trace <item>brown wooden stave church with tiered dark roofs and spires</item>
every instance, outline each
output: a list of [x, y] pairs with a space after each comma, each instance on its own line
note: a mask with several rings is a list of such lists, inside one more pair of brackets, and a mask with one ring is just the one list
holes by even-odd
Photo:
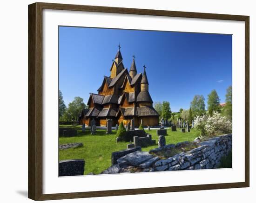
[[142, 119], [143, 126], [157, 126], [159, 114], [153, 108], [153, 101], [148, 92], [148, 78], [146, 67], [144, 72], [137, 73], [135, 56], [128, 71], [123, 65], [120, 51], [110, 68], [110, 76], [104, 76], [98, 94], [90, 93], [88, 109], [84, 109], [80, 116], [80, 123], [91, 125], [94, 119], [97, 126], [106, 126], [107, 119], [113, 120], [113, 126], [126, 125], [135, 119], [135, 126], [139, 126]]

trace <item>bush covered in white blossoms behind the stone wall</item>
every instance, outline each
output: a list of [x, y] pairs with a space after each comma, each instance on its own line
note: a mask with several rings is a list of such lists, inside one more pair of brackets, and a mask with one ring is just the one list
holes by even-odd
[[207, 115], [196, 116], [194, 126], [201, 132], [201, 136], [232, 132], [231, 121], [218, 112], [214, 112], [211, 117]]

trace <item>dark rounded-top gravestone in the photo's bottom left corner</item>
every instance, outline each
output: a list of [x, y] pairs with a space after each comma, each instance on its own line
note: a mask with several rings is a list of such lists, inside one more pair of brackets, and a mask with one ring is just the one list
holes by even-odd
[[63, 160], [59, 163], [59, 176], [81, 176], [84, 174], [83, 159]]

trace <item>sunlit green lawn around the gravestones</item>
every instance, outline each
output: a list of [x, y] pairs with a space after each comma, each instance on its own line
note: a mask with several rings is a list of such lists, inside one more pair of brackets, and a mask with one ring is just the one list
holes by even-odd
[[[115, 130], [112, 131], [112, 134], [106, 134], [106, 130], [97, 129], [95, 135], [91, 135], [89, 130], [86, 129], [86, 132], [81, 132], [81, 126], [66, 126], [61, 125], [60, 127], [72, 127], [78, 130], [78, 135], [76, 137], [70, 138], [59, 138], [59, 144], [67, 144], [74, 142], [83, 143], [82, 147], [75, 149], [66, 149], [59, 150], [60, 160], [65, 159], [84, 159], [85, 171], [84, 174], [93, 172], [94, 174], [99, 174], [101, 171], [104, 171], [109, 166], [111, 166], [111, 153], [126, 149], [126, 145], [129, 142], [115, 142]], [[158, 136], [156, 135], [156, 130], [148, 131], [147, 133], [152, 134], [152, 140], [156, 140], [155, 146], [148, 146], [142, 148], [142, 151], [149, 151], [157, 147]], [[194, 129], [191, 129], [190, 133], [181, 133], [180, 129], [177, 129], [177, 132], [171, 132], [170, 129], [167, 129], [166, 144], [176, 144], [177, 142], [182, 141], [193, 141], [197, 137], [197, 133]]]

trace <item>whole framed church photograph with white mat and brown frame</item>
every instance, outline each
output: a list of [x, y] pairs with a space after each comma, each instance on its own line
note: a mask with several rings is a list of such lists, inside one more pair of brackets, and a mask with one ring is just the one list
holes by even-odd
[[249, 187], [249, 16], [34, 3], [28, 25], [29, 198]]

